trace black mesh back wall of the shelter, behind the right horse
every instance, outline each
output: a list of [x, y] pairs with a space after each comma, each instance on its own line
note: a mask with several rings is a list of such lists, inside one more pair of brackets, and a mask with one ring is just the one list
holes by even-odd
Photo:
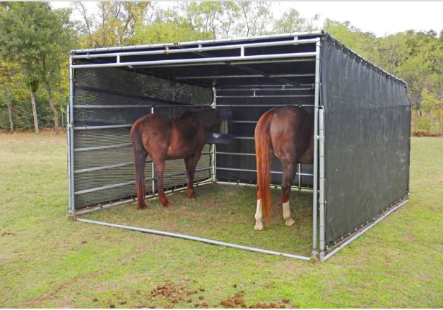
[[[295, 86], [300, 87], [300, 86]], [[223, 98], [223, 96], [252, 96], [253, 91], [218, 91], [217, 105], [313, 105], [314, 91], [256, 91], [256, 96], [276, 96], [274, 98]], [[281, 98], [282, 95], [308, 95], [308, 97], [289, 97]], [[256, 170], [255, 148], [254, 148], [254, 130], [256, 122], [261, 115], [272, 107], [235, 107], [232, 106], [232, 127], [230, 134], [237, 137], [232, 144], [217, 145], [217, 167], [218, 168], [237, 168]], [[313, 112], [313, 108], [305, 108], [309, 113]], [[238, 122], [240, 121], [240, 122]], [[254, 123], [242, 123], [241, 121], [254, 121]], [[241, 139], [241, 137], [252, 137], [252, 139]], [[218, 154], [220, 152], [229, 153], [247, 153], [254, 156], [244, 155], [226, 155]], [[302, 173], [313, 172], [312, 165], [302, 165]], [[281, 163], [278, 159], [273, 159], [271, 163], [272, 171], [283, 171]], [[297, 171], [299, 172], [299, 171]], [[235, 181], [240, 183], [256, 184], [256, 173], [247, 171], [229, 171], [217, 169], [218, 180]], [[272, 173], [271, 182], [273, 184], [281, 184], [281, 173]], [[302, 176], [301, 185], [312, 187], [312, 176]], [[298, 176], [295, 176], [293, 185], [298, 184]]]

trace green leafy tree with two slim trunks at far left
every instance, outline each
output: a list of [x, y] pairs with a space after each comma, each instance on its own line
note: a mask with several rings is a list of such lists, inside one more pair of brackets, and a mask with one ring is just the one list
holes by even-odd
[[35, 132], [39, 133], [35, 92], [44, 84], [54, 127], [59, 134], [59, 115], [52, 100], [52, 85], [73, 44], [69, 10], [53, 11], [46, 2], [6, 2], [0, 11], [0, 52], [18, 62], [26, 78], [33, 106]]

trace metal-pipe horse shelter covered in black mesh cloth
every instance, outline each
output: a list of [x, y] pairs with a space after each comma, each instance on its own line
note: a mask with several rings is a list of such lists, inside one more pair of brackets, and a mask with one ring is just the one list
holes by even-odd
[[[226, 120], [222, 131], [232, 135], [232, 143], [206, 144], [195, 183], [251, 186], [259, 117], [279, 105], [301, 106], [314, 115], [314, 164], [299, 164], [293, 180], [293, 190], [312, 192], [310, 257], [79, 221], [324, 261], [408, 201], [406, 83], [324, 31], [74, 50], [70, 90], [69, 212], [76, 217], [135, 201], [129, 130], [143, 115], [179, 117], [202, 105], [220, 109]], [[155, 197], [153, 164], [149, 158], [147, 163], [146, 197]], [[182, 160], [167, 161], [165, 189], [181, 190], [184, 171]], [[279, 188], [281, 176], [274, 160], [273, 188]], [[254, 212], [252, 207], [252, 219]]]

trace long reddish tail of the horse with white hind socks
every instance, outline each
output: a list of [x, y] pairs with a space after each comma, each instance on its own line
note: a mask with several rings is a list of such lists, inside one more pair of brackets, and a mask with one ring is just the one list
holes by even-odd
[[269, 226], [271, 217], [271, 138], [269, 127], [271, 125], [272, 113], [261, 115], [255, 127], [255, 155], [257, 163], [257, 200], [261, 200], [265, 226]]

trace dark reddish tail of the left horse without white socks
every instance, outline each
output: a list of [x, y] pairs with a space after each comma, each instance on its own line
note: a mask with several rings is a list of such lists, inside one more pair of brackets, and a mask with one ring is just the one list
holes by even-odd
[[136, 187], [138, 208], [145, 207], [145, 164], [148, 153], [143, 147], [141, 130], [138, 125], [131, 128], [132, 149], [134, 149], [134, 167], [136, 169]]

